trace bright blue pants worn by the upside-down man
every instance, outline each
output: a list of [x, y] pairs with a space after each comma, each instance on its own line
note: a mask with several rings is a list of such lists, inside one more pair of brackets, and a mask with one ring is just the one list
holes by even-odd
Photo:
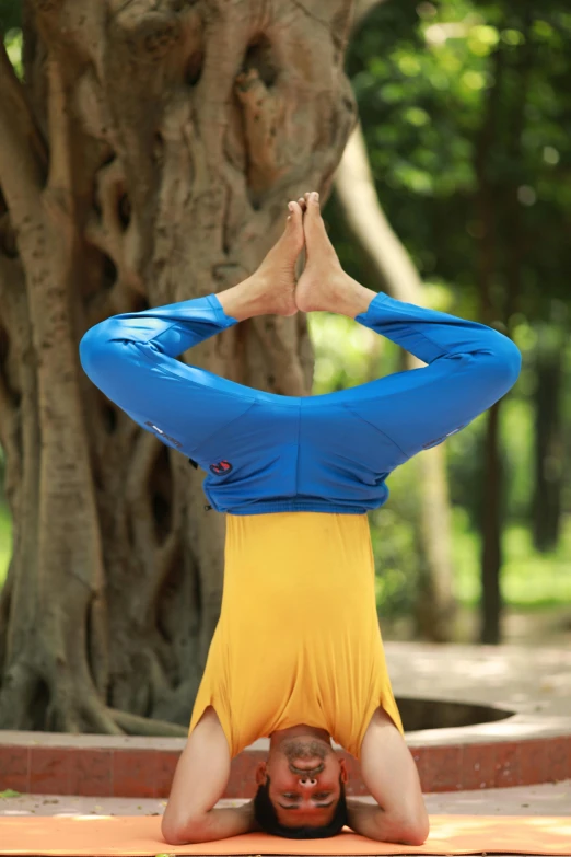
[[176, 357], [237, 324], [215, 294], [115, 315], [81, 340], [81, 364], [108, 398], [207, 473], [218, 511], [364, 513], [385, 479], [501, 398], [521, 369], [491, 327], [377, 294], [359, 324], [428, 366], [321, 396], [281, 396]]

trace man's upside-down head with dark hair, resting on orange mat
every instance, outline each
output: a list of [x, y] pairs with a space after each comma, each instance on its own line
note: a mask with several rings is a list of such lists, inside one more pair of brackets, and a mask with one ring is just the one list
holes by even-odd
[[345, 761], [324, 738], [310, 732], [272, 740], [256, 781], [255, 815], [267, 833], [324, 838], [347, 824]]

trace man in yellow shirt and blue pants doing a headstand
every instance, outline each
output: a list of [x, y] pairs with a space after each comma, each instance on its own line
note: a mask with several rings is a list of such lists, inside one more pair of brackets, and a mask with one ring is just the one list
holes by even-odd
[[[289, 208], [283, 235], [244, 282], [114, 316], [80, 346], [93, 382], [201, 466], [209, 502], [226, 513], [220, 621], [162, 833], [182, 845], [259, 829], [330, 836], [347, 823], [373, 839], [420, 845], [429, 821], [386, 669], [366, 512], [386, 501], [395, 467], [510, 390], [521, 356], [490, 327], [347, 276], [317, 194]], [[318, 310], [354, 319], [428, 366], [302, 398], [175, 359], [254, 315]], [[270, 751], [255, 800], [215, 808], [231, 760], [263, 736]], [[346, 799], [331, 738], [360, 761], [376, 804]]]

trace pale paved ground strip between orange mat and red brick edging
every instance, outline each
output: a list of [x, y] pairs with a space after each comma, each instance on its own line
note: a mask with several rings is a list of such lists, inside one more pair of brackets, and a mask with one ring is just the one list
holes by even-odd
[[[427, 795], [432, 814], [571, 815], [571, 780], [544, 786]], [[225, 800], [220, 806], [238, 806]], [[0, 798], [0, 815], [152, 815], [163, 813], [166, 800], [145, 798], [80, 798], [22, 795]]]

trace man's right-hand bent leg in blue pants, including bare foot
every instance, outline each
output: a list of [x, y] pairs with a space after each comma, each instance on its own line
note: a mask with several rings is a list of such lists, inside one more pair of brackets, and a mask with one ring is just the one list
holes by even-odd
[[307, 266], [298, 285], [298, 306], [354, 317], [428, 363], [322, 397], [323, 407], [335, 403], [347, 408], [377, 430], [380, 444], [392, 444], [395, 454], [382, 456], [375, 470], [392, 470], [442, 442], [515, 383], [521, 355], [506, 336], [477, 322], [375, 294], [345, 274], [313, 195], [304, 232]]

